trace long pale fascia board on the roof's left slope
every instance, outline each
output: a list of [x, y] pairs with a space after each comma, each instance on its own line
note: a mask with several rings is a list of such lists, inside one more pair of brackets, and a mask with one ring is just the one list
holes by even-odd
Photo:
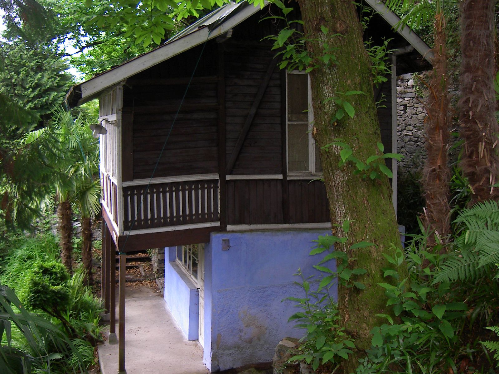
[[[267, 1], [265, 1], [265, 5], [266, 4], [268, 4]], [[123, 65], [108, 70], [107, 72], [95, 78], [81, 83], [81, 99], [78, 101], [78, 105], [95, 98], [96, 95], [102, 90], [116, 83], [119, 83], [126, 78], [140, 73], [141, 71], [159, 64], [160, 62], [168, 60], [169, 58], [185, 52], [188, 49], [200, 45], [207, 40], [214, 39], [224, 34], [259, 10], [260, 7], [248, 5], [245, 8], [241, 9], [241, 11], [239, 11], [237, 14], [229, 18], [227, 21], [223, 22], [211, 33], [208, 27], [203, 27], [180, 39], [174, 40], [171, 43], [164, 44], [161, 47], [152, 50], [151, 52], [148, 52], [142, 56], [130, 60], [129, 62], [124, 63]]]

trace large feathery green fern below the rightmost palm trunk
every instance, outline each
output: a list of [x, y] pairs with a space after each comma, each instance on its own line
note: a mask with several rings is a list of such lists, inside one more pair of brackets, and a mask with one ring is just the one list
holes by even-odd
[[434, 284], [475, 281], [491, 272], [498, 278], [499, 202], [483, 201], [463, 209], [455, 222], [460, 226], [456, 251], [443, 263]]

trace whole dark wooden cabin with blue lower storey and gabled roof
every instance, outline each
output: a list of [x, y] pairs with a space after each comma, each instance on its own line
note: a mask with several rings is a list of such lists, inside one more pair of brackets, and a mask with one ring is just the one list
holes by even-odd
[[[429, 47], [394, 31], [398, 17], [379, 0], [365, 5], [375, 9], [365, 38], [395, 50], [374, 92], [385, 152], [396, 152], [395, 79], [427, 69]], [[167, 247], [165, 299], [211, 371], [269, 361], [296, 335], [280, 300], [298, 267], [313, 273], [311, 240], [331, 224], [309, 78], [279, 70], [263, 39], [282, 27], [269, 11], [227, 4], [70, 95], [100, 101], [102, 214], [116, 247]]]

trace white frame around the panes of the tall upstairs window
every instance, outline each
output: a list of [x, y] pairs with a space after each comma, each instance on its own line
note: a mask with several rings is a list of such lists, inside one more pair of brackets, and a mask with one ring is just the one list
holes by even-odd
[[[289, 172], [289, 149], [288, 149], [288, 124], [289, 123], [303, 123], [301, 121], [289, 121], [288, 120], [288, 102], [287, 102], [287, 76], [288, 74], [306, 74], [307, 75], [307, 82], [308, 82], [308, 171], [303, 171], [303, 172]], [[312, 130], [313, 130], [313, 122], [314, 122], [314, 116], [313, 116], [313, 108], [312, 108], [312, 87], [310, 84], [310, 74], [305, 73], [304, 71], [299, 71], [299, 70], [293, 70], [293, 71], [286, 71], [286, 172], [288, 176], [296, 176], [296, 177], [303, 177], [303, 176], [312, 176], [312, 177], [317, 177], [317, 176], [322, 176], [322, 172], [316, 172], [315, 171], [315, 139], [312, 136]]]

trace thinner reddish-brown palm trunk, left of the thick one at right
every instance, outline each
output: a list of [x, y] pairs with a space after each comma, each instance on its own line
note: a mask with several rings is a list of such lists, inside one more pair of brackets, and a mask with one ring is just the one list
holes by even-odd
[[[447, 242], [450, 233], [449, 182], [451, 173], [448, 165], [449, 150], [449, 95], [447, 81], [447, 33], [443, 13], [435, 15], [433, 71], [429, 85], [426, 117], [427, 160], [423, 168], [423, 187], [426, 200], [424, 222], [441, 242]], [[434, 245], [435, 235], [428, 238]], [[445, 248], [445, 247], [444, 247]]]

